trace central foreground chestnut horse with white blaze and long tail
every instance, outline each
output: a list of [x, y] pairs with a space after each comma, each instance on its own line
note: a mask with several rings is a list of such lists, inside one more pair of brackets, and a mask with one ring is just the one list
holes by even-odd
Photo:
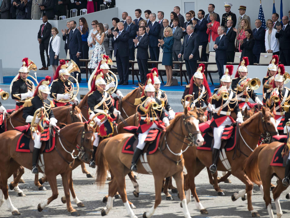
[[[111, 169], [114, 178], [109, 182], [109, 197], [106, 207], [102, 210], [101, 215], [104, 216], [112, 209], [113, 193], [118, 187], [119, 194], [125, 208], [131, 218], [137, 218], [133, 210], [130, 208], [127, 194], [125, 190], [125, 175], [130, 172], [131, 154], [123, 154], [122, 146], [132, 134], [118, 134], [111, 138], [103, 140], [97, 149], [97, 178], [96, 183], [102, 186], [106, 180], [106, 170]], [[187, 209], [186, 199], [183, 190], [183, 166], [184, 160], [182, 157], [181, 148], [184, 139], [187, 138], [189, 145], [203, 144], [199, 128], [198, 120], [195, 111], [187, 111], [180, 113], [170, 121], [170, 125], [166, 127], [160, 137], [159, 150], [147, 157], [148, 164], [152, 169], [155, 181], [155, 205], [143, 214], [143, 217], [151, 217], [155, 212], [156, 207], [161, 202], [161, 187], [162, 180], [166, 177], [173, 176], [178, 192], [180, 193], [181, 203], [183, 205], [184, 216], [189, 218], [190, 213]], [[181, 142], [181, 143], [180, 143]], [[141, 161], [138, 161], [138, 173], [149, 174], [142, 166]]]

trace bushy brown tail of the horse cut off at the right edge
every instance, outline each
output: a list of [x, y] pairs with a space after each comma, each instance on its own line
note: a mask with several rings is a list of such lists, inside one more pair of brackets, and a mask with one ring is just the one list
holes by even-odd
[[256, 147], [253, 153], [246, 159], [246, 163], [244, 165], [244, 171], [246, 172], [246, 175], [252, 182], [258, 185], [261, 184], [260, 171], [258, 166], [258, 155], [260, 151], [267, 145], [268, 144], [263, 144]]

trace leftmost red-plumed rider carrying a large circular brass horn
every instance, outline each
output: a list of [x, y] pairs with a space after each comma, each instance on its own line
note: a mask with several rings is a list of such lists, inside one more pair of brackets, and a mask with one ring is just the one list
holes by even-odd
[[22, 67], [18, 71], [18, 78], [13, 82], [11, 88], [11, 97], [17, 101], [15, 107], [16, 111], [24, 104], [24, 102], [20, 101], [25, 101], [25, 99], [32, 97], [34, 94], [33, 83], [27, 80], [29, 74], [28, 58], [23, 58], [22, 62]]

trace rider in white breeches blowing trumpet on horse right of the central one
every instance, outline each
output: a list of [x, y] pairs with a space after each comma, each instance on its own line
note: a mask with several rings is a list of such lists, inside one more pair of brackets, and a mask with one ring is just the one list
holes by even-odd
[[233, 65], [226, 65], [226, 72], [220, 79], [221, 87], [215, 89], [213, 96], [209, 99], [209, 105], [211, 111], [213, 111], [213, 119], [210, 123], [210, 127], [213, 127], [213, 164], [210, 166], [210, 171], [215, 173], [217, 171], [217, 162], [221, 146], [221, 136], [225, 126], [231, 125], [235, 121], [230, 116], [231, 109], [237, 114], [239, 123], [243, 123], [243, 116], [240, 112], [236, 94], [230, 89], [233, 73]]

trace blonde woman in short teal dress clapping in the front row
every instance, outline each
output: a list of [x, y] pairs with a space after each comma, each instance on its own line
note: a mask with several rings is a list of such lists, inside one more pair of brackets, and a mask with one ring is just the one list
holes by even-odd
[[164, 36], [164, 39], [158, 39], [158, 47], [163, 50], [162, 65], [165, 65], [167, 77], [165, 86], [172, 86], [172, 47], [174, 38], [170, 27], [164, 28]]

